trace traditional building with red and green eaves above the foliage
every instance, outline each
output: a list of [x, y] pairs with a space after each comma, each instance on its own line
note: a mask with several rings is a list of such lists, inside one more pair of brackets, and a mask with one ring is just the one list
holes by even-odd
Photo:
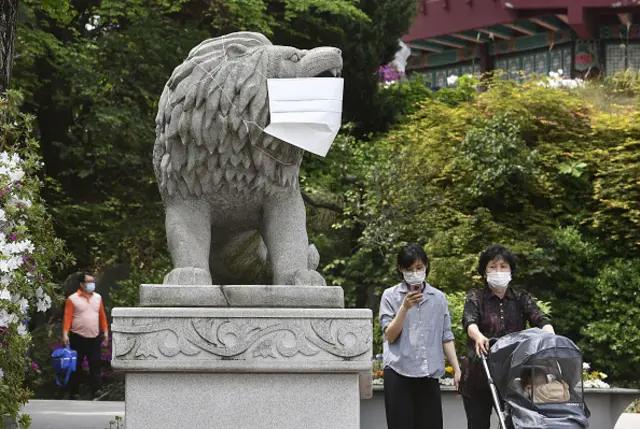
[[495, 69], [565, 76], [640, 69], [640, 0], [420, 0], [407, 71], [436, 88]]

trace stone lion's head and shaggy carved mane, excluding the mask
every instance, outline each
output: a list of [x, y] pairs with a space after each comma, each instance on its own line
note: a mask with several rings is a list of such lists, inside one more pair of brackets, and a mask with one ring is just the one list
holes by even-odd
[[337, 48], [275, 46], [259, 33], [232, 33], [193, 48], [158, 106], [153, 165], [163, 196], [297, 187], [302, 149], [262, 131], [267, 79], [341, 71]]

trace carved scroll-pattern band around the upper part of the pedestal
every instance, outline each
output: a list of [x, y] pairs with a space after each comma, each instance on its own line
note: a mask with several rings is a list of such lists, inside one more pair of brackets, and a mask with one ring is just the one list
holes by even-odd
[[114, 321], [116, 360], [331, 360], [371, 350], [371, 322], [354, 319], [122, 318]]

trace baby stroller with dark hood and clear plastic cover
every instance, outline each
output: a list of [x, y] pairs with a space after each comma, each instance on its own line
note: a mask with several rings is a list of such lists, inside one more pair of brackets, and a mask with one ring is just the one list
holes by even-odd
[[589, 428], [582, 353], [571, 340], [533, 328], [492, 343], [482, 362], [502, 429]]

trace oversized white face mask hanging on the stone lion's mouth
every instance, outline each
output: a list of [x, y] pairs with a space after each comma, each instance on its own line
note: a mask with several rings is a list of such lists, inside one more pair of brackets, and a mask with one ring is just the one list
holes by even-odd
[[342, 124], [344, 80], [267, 79], [271, 122], [264, 129], [284, 142], [325, 156]]

